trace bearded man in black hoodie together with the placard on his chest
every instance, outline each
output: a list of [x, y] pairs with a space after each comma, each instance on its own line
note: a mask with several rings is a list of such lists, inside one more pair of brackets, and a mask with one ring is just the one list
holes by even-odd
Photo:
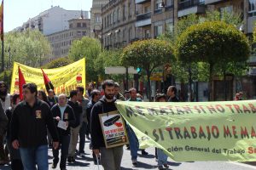
[[104, 169], [119, 170], [127, 135], [124, 122], [114, 105], [113, 80], [104, 81], [102, 89], [105, 95], [93, 106], [90, 116], [92, 149], [96, 156], [101, 155]]

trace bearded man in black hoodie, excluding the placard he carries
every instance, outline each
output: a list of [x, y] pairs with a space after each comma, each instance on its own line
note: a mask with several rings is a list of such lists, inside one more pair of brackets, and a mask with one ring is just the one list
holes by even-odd
[[104, 96], [92, 108], [90, 116], [91, 144], [96, 156], [101, 154], [102, 166], [106, 170], [119, 170], [123, 156], [123, 146], [106, 148], [104, 143], [99, 115], [111, 111], [117, 111], [114, 102], [114, 82], [106, 80], [102, 83]]

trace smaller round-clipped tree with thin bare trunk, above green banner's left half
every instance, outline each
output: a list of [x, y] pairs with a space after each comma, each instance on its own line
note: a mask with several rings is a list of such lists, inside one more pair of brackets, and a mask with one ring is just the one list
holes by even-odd
[[123, 50], [120, 63], [122, 65], [142, 68], [147, 73], [148, 97], [151, 98], [149, 77], [154, 69], [174, 59], [172, 46], [162, 40], [150, 39], [133, 42]]

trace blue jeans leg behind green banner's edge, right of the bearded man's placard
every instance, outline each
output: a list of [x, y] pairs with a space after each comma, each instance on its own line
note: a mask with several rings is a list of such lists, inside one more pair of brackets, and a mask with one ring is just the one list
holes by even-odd
[[126, 126], [126, 129], [127, 129], [129, 145], [131, 150], [131, 160], [137, 160], [137, 150], [139, 149], [137, 136], [129, 125]]

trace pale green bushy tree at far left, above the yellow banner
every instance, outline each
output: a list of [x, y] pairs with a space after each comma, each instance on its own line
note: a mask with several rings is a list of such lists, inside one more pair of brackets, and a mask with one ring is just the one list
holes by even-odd
[[[38, 67], [40, 59], [41, 62], [44, 59], [48, 59], [50, 53], [49, 42], [40, 31], [11, 31], [4, 35], [4, 63], [9, 64], [5, 65], [6, 68], [12, 67], [14, 61]], [[11, 61], [10, 63], [9, 60]]]

